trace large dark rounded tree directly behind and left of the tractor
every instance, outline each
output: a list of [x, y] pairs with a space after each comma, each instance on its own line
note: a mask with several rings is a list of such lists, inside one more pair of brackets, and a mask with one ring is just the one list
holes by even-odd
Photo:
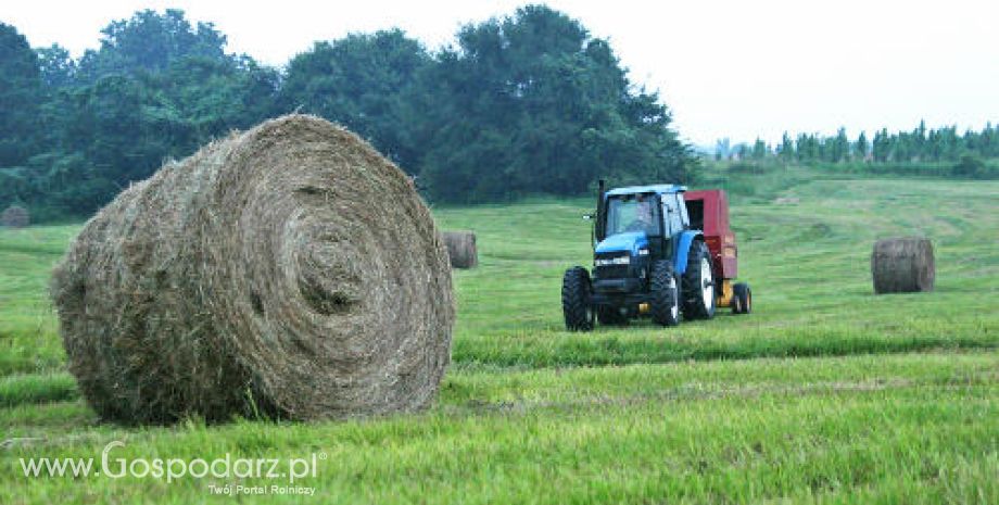
[[421, 184], [447, 201], [683, 181], [691, 156], [606, 41], [545, 7], [469, 25], [420, 75]]

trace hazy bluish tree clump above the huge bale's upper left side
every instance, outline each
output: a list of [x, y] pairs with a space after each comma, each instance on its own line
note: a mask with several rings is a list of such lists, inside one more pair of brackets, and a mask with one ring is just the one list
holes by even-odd
[[210, 24], [143, 11], [103, 33], [101, 49], [78, 63], [58, 46], [38, 50], [45, 151], [17, 173], [29, 181], [13, 186], [18, 199], [92, 212], [164, 160], [276, 111], [278, 72], [225, 54]]

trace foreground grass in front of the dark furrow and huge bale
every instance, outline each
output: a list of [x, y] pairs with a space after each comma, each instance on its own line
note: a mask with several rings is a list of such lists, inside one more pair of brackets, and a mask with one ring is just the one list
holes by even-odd
[[[124, 430], [91, 419], [64, 433], [20, 422], [15, 408], [3, 421], [24, 441], [0, 464], [99, 457], [125, 440], [114, 457], [321, 452], [317, 477], [300, 483], [324, 503], [990, 503], [997, 370], [996, 353], [482, 369], [451, 374], [423, 415], [313, 425]], [[219, 483], [23, 479], [0, 474], [3, 503], [205, 503]]]

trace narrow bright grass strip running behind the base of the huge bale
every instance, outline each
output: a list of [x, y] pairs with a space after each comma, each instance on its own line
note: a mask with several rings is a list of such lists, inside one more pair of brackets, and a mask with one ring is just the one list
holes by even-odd
[[[888, 357], [856, 355], [830, 359], [685, 361], [670, 366], [643, 364], [518, 369], [466, 365], [454, 367], [446, 376], [438, 403], [453, 407], [511, 401], [576, 401], [584, 396], [650, 395], [670, 388], [704, 388], [706, 384], [718, 389], [764, 382], [782, 387], [835, 383], [844, 377], [869, 383], [889, 379], [934, 384], [988, 381], [999, 378], [999, 353], [939, 351]], [[0, 407], [62, 403], [78, 397], [75, 380], [67, 373], [14, 375], [0, 379]], [[16, 416], [7, 417], [11, 422], [15, 419]]]

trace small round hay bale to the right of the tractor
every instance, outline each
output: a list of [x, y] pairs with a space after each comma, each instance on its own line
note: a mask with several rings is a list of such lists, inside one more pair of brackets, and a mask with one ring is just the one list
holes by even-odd
[[871, 274], [875, 294], [932, 291], [933, 244], [922, 237], [878, 240], [871, 254]]

